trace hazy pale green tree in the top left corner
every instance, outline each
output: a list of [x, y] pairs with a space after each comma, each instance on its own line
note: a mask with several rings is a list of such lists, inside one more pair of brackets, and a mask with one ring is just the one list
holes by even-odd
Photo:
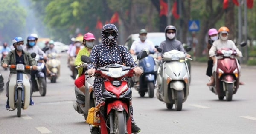
[[26, 11], [19, 0], [0, 0], [0, 40], [11, 42], [21, 36], [25, 26]]

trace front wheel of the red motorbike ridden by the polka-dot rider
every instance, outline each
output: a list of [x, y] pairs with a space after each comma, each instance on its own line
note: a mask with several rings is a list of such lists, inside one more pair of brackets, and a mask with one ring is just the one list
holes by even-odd
[[114, 117], [113, 131], [114, 134], [125, 134], [125, 116], [124, 111], [116, 111]]

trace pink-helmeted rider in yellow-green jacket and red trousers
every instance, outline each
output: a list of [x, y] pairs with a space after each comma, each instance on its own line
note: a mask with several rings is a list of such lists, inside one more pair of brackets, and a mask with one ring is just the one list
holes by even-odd
[[[90, 52], [92, 51], [92, 48], [95, 43], [95, 37], [92, 33], [88, 32], [84, 34], [83, 38], [83, 46], [84, 48], [80, 49], [75, 60], [75, 66], [79, 66], [82, 64], [81, 56], [86, 55], [89, 56]], [[85, 94], [85, 76], [84, 76], [84, 68], [80, 67], [77, 68], [78, 70], [78, 78], [75, 80], [75, 85], [77, 88], [79, 88], [80, 91], [82, 91]]]

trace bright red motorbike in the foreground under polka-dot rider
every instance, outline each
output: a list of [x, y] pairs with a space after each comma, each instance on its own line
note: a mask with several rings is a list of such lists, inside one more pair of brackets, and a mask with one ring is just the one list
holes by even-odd
[[[146, 52], [142, 51], [137, 59], [146, 56]], [[91, 63], [85, 55], [81, 56], [81, 60]], [[116, 63], [96, 68], [94, 76], [107, 79], [102, 83], [99, 134], [131, 134], [131, 86], [124, 79], [133, 74], [133, 68]]]

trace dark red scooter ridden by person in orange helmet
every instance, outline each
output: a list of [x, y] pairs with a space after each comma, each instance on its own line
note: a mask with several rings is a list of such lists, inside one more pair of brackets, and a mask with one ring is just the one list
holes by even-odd
[[239, 63], [236, 59], [236, 50], [221, 48], [216, 51], [217, 66], [215, 69], [215, 86], [209, 86], [210, 90], [218, 95], [219, 100], [226, 96], [227, 101], [232, 100], [239, 88]]

